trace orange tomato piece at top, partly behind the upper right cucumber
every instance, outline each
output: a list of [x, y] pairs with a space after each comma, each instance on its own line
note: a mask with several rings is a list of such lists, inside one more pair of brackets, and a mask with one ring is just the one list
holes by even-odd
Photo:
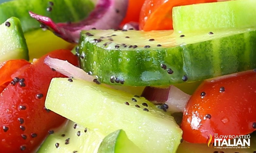
[[145, 0], [139, 17], [141, 30], [169, 30], [172, 28], [172, 8], [217, 0]]

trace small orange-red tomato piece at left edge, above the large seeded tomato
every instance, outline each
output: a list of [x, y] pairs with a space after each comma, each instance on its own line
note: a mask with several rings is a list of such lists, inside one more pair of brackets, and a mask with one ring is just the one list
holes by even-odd
[[22, 66], [29, 65], [26, 60], [9, 60], [0, 65], [0, 93], [12, 81], [11, 75], [19, 70]]

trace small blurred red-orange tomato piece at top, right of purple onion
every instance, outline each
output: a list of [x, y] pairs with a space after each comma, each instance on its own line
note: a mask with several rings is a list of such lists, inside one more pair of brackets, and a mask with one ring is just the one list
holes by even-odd
[[139, 22], [139, 15], [144, 1], [145, 0], [129, 0], [125, 19], [121, 24], [125, 24], [131, 21]]

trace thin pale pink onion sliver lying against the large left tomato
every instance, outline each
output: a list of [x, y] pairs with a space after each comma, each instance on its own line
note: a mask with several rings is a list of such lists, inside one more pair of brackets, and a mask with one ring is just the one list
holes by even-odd
[[73, 77], [75, 79], [82, 79], [90, 82], [92, 82], [95, 79], [95, 77], [90, 76], [79, 67], [73, 66], [68, 61], [59, 60], [47, 56], [44, 60], [44, 63], [48, 65], [50, 68], [56, 70], [57, 72], [67, 77]]

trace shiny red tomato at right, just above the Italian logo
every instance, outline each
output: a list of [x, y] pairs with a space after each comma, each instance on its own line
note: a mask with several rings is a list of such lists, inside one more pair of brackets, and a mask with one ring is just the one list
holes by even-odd
[[[190, 98], [181, 124], [185, 141], [206, 143], [209, 134], [243, 135], [256, 130], [256, 71], [227, 76], [205, 80]], [[221, 87], [225, 91], [220, 92]]]

